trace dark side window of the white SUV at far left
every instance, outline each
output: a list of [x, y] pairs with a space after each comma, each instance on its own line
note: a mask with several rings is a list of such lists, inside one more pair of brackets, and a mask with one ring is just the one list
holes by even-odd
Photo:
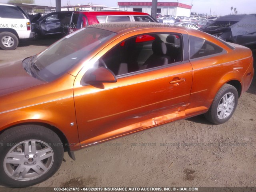
[[14, 6], [2, 6], [0, 5], [0, 17], [1, 18], [13, 18], [24, 19], [22, 12]]

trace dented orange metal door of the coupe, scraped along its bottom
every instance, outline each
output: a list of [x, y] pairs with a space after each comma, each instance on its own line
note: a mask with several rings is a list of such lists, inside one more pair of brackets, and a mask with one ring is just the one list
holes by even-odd
[[[146, 61], [132, 72], [128, 65], [134, 63], [124, 60], [130, 58], [125, 55], [126, 48], [132, 49], [129, 45], [126, 47], [126, 43], [128, 41], [116, 46], [95, 64], [95, 68], [107, 66], [114, 71], [117, 82], [74, 86], [82, 146], [185, 116], [192, 86], [190, 62], [157, 66], [155, 60], [155, 66], [153, 62], [145, 68], [144, 64], [151, 65]], [[154, 60], [154, 56], [150, 57]]]

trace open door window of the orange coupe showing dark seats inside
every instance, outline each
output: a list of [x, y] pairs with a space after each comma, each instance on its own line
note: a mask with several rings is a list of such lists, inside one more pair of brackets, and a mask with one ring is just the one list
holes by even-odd
[[180, 34], [143, 34], [129, 38], [101, 59], [116, 76], [182, 61]]

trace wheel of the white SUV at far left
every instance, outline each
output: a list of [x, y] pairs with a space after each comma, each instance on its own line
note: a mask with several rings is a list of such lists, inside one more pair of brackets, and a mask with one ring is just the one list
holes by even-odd
[[3, 50], [14, 50], [19, 44], [18, 37], [11, 32], [0, 33], [0, 47]]

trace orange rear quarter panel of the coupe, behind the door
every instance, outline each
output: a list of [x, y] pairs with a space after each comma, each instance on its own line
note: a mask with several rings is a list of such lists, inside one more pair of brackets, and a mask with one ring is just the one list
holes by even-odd
[[[227, 53], [224, 54], [190, 61], [194, 74], [191, 105], [188, 108], [194, 108], [198, 104], [209, 108], [218, 90], [231, 80], [240, 82], [242, 92], [249, 88], [253, 72], [250, 77], [244, 77], [244, 75], [252, 66], [251, 50], [243, 46], [236, 46], [235, 50], [226, 50]], [[250, 71], [252, 70], [253, 68], [250, 67]]]

